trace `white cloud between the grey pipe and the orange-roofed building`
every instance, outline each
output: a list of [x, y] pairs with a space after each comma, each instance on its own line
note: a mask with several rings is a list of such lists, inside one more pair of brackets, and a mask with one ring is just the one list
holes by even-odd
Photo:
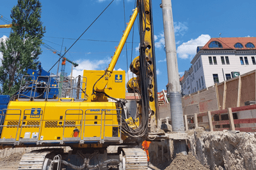
[[177, 55], [180, 59], [193, 59], [196, 54], [197, 46], [204, 46], [211, 36], [208, 34], [202, 34], [196, 39], [191, 39], [186, 43], [182, 43], [182, 45], [177, 48]]

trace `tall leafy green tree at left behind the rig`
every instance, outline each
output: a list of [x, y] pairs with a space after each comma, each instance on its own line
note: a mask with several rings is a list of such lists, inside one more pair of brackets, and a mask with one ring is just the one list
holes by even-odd
[[0, 67], [3, 94], [12, 96], [19, 90], [22, 75], [38, 65], [45, 33], [40, 20], [41, 7], [38, 0], [18, 0], [18, 4], [12, 8], [12, 31], [6, 42], [0, 45], [3, 53]]

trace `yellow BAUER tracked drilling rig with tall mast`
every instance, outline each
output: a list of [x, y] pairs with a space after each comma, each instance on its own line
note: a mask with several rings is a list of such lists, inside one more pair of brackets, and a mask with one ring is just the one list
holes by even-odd
[[[113, 70], [137, 17], [140, 56], [130, 65], [136, 78], [127, 83], [127, 89], [138, 95], [137, 112], [131, 116], [125, 106], [125, 71]], [[31, 71], [23, 76], [20, 90], [2, 111], [2, 149], [54, 146], [24, 154], [20, 170], [148, 168], [147, 153], [138, 145], [149, 140], [148, 133], [158, 119], [151, 0], [137, 1], [105, 71], [84, 70], [83, 76], [68, 77], [70, 85], [61, 90], [72, 97], [58, 97], [58, 81], [57, 76]], [[111, 145], [118, 147], [118, 152], [109, 154]], [[64, 153], [56, 146], [70, 146], [72, 151]]]

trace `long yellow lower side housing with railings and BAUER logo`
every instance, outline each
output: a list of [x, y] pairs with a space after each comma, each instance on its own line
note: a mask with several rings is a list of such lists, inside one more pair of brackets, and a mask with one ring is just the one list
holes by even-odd
[[[16, 110], [17, 108], [19, 110]], [[30, 132], [29, 138], [33, 138], [32, 134], [38, 132], [35, 138], [42, 142], [58, 141], [63, 138], [75, 138], [74, 129], [79, 130], [78, 136], [81, 139], [120, 136], [118, 130], [113, 131], [115, 125], [118, 125], [118, 120], [116, 104], [111, 102], [10, 101], [8, 109], [10, 110], [7, 111], [4, 120], [4, 125], [8, 126], [3, 127], [1, 139], [19, 141], [25, 137], [25, 133]], [[19, 128], [15, 127], [18, 124]]]

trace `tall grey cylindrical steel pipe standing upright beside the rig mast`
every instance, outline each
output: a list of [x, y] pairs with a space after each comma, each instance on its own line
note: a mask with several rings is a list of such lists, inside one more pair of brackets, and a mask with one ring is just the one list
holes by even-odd
[[[175, 34], [172, 16], [172, 1], [162, 0], [160, 6], [163, 9], [164, 41], [166, 49], [166, 62], [168, 72], [168, 97], [170, 97], [172, 130], [173, 132], [184, 133], [184, 120], [182, 101], [180, 94], [179, 70], [175, 45]], [[173, 140], [175, 153], [186, 152], [186, 140]]]

